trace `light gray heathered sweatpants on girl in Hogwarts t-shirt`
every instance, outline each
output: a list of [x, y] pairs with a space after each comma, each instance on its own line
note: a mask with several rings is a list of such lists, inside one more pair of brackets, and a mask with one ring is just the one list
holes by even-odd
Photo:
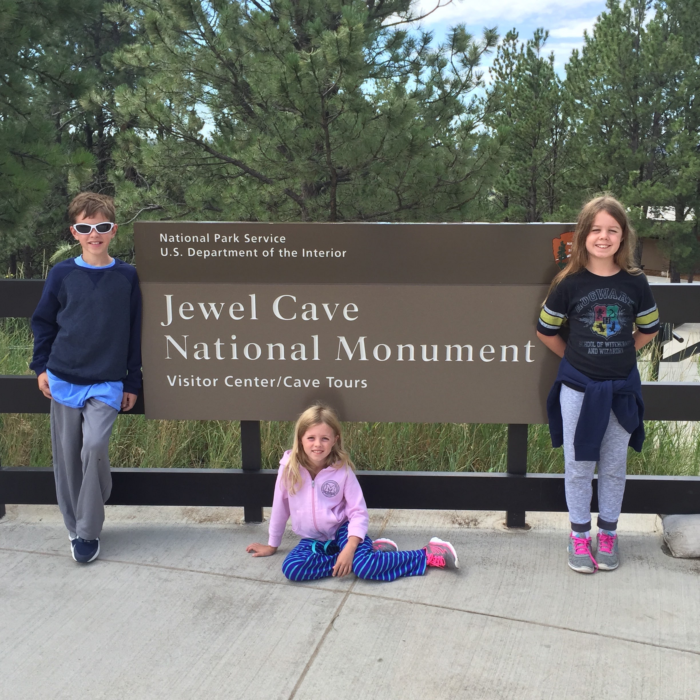
[[[564, 429], [564, 486], [571, 529], [574, 532], [587, 532], [591, 529], [591, 481], [596, 463], [577, 462], [573, 449], [583, 393], [562, 384], [559, 402]], [[629, 433], [610, 411], [610, 422], [608, 430], [605, 430], [598, 461], [598, 527], [605, 530], [617, 528], [624, 495], [628, 445]]]

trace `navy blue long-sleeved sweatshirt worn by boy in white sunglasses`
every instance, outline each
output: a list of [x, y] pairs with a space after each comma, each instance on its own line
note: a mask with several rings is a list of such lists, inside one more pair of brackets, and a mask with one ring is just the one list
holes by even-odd
[[52, 267], [34, 316], [34, 358], [71, 384], [123, 381], [141, 388], [141, 290], [136, 268], [115, 258], [113, 267], [89, 269], [64, 260]]

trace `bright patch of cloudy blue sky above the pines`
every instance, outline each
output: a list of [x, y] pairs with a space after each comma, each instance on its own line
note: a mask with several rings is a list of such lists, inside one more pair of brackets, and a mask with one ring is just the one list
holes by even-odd
[[[425, 13], [438, 2], [445, 5], [447, 0], [417, 0], [415, 7]], [[449, 27], [460, 23], [475, 37], [482, 34], [484, 27], [498, 27], [500, 36], [515, 27], [521, 41], [531, 38], [537, 27], [544, 27], [549, 29], [545, 50], [547, 54], [554, 51], [556, 71], [563, 76], [571, 51], [583, 45], [584, 29], [590, 31], [603, 10], [605, 0], [453, 0], [421, 23], [435, 32], [436, 40], [442, 39]]]

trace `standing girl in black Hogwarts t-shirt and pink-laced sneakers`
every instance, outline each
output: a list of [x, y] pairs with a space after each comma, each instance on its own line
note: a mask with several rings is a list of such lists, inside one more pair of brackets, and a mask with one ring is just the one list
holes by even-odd
[[[636, 236], [613, 197], [578, 216], [570, 259], [554, 277], [537, 335], [562, 358], [547, 399], [552, 444], [564, 447], [571, 521], [568, 565], [581, 573], [619, 565], [617, 519], [627, 447], [644, 439], [636, 352], [657, 335], [659, 314], [633, 260]], [[568, 340], [559, 332], [568, 323]], [[636, 326], [636, 330], [635, 327]], [[598, 535], [591, 553], [591, 480], [598, 465]]]

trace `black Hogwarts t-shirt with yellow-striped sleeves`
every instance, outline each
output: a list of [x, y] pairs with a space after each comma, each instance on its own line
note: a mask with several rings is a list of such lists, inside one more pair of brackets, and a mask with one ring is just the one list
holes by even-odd
[[587, 269], [565, 277], [547, 297], [537, 330], [556, 335], [568, 321], [564, 356], [590, 379], [625, 379], [636, 362], [632, 332], [659, 330], [652, 290], [643, 274], [603, 277]]

